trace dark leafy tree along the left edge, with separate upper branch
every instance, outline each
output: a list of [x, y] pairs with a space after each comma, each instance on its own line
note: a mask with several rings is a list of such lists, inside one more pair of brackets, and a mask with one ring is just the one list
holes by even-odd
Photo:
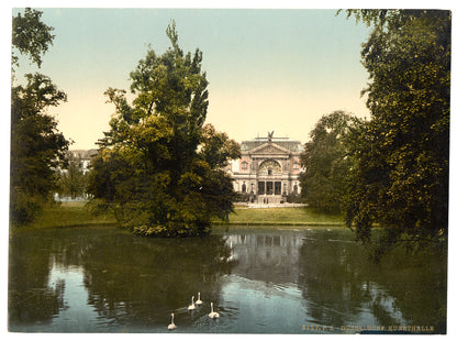
[[[13, 18], [13, 74], [19, 58], [14, 48], [41, 65], [41, 54], [53, 40], [52, 28], [40, 21], [42, 12], [25, 9]], [[13, 78], [14, 79], [14, 78]], [[25, 75], [26, 85], [11, 90], [10, 216], [13, 226], [32, 221], [57, 188], [55, 169], [65, 165], [69, 142], [46, 114], [48, 107], [66, 101], [65, 92], [41, 74]]]

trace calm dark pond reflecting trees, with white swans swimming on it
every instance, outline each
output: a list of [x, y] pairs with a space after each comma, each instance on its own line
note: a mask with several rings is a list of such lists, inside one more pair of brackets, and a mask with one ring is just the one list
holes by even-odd
[[[9, 330], [445, 333], [446, 263], [427, 250], [374, 264], [342, 228], [218, 227], [181, 240], [114, 227], [20, 232], [10, 238]], [[203, 302], [189, 310], [198, 293]]]

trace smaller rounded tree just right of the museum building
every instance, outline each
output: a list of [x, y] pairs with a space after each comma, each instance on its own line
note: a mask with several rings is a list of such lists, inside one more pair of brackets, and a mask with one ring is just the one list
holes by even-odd
[[346, 193], [346, 177], [352, 167], [347, 136], [358, 123], [344, 111], [323, 116], [305, 143], [301, 164], [302, 197], [310, 207], [324, 211], [341, 211]]

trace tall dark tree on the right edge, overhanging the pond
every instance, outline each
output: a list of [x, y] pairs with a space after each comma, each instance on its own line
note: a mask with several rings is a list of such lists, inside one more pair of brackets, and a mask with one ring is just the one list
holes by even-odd
[[353, 152], [356, 168], [346, 224], [369, 241], [386, 231], [379, 254], [399, 242], [447, 242], [450, 12], [348, 11], [372, 25], [363, 45], [371, 120]]

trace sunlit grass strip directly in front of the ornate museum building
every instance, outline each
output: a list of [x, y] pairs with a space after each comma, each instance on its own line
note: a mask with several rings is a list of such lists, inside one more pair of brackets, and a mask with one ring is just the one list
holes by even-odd
[[[228, 217], [230, 224], [261, 226], [336, 226], [343, 224], [341, 215], [322, 213], [308, 207], [290, 208], [235, 208]], [[220, 220], [215, 223], [224, 223]]]

